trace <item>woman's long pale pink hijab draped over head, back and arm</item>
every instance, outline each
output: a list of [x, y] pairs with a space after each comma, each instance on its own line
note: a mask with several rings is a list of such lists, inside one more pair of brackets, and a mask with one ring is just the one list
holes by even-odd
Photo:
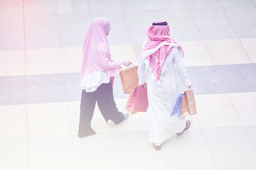
[[105, 71], [110, 77], [119, 74], [122, 61], [111, 62], [110, 48], [107, 42], [107, 33], [110, 30], [110, 21], [106, 18], [95, 18], [85, 37], [82, 48], [82, 68], [80, 79], [85, 74], [94, 71]]

